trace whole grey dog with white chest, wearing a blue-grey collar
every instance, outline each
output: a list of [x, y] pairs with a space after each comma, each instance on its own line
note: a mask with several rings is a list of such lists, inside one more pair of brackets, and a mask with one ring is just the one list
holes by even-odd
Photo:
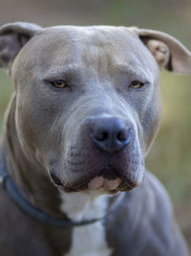
[[156, 31], [18, 22], [0, 28], [0, 65], [14, 82], [0, 255], [187, 256], [144, 158], [159, 129], [160, 69], [191, 74], [191, 53]]

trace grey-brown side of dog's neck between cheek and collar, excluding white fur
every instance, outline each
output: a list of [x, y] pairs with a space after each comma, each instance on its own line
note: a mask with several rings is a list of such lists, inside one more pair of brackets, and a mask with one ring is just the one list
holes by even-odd
[[15, 126], [15, 98], [11, 101], [5, 126], [2, 147], [13, 183], [34, 207], [53, 217], [63, 218], [58, 190], [40, 163], [30, 161], [20, 145]]

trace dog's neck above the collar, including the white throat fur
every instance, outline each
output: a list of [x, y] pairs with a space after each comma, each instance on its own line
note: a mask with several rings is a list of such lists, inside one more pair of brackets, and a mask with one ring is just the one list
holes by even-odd
[[40, 163], [37, 160], [29, 161], [20, 145], [14, 117], [15, 98], [13, 97], [5, 123], [2, 147], [7, 171], [21, 195], [34, 207], [54, 218], [69, 217], [73, 221], [83, 221], [103, 217], [108, 207], [107, 195], [61, 193], [53, 185], [50, 176]]

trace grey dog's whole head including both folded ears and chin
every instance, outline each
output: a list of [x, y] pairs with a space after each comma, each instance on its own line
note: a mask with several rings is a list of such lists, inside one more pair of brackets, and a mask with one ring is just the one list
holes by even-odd
[[0, 29], [26, 155], [66, 192], [138, 186], [159, 128], [160, 69], [191, 73], [191, 54], [160, 32], [12, 23]]

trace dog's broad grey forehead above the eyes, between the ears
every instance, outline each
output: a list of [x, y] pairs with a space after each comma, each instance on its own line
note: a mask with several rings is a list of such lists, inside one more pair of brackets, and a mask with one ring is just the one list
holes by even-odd
[[35, 63], [36, 69], [45, 73], [70, 64], [80, 67], [80, 72], [93, 68], [113, 73], [116, 67], [144, 72], [155, 67], [138, 35], [125, 27], [50, 27], [35, 35], [24, 48], [19, 62], [25, 62], [28, 70]]

